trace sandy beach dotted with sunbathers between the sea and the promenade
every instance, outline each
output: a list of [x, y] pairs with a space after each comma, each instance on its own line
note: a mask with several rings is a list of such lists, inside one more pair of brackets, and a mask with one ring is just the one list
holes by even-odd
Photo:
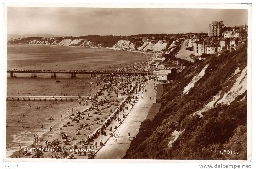
[[[146, 77], [145, 77], [146, 78]], [[144, 78], [144, 79], [145, 79]], [[122, 79], [122, 80], [120, 80]], [[127, 79], [130, 79], [130, 81], [127, 82]], [[88, 100], [87, 102], [83, 101], [81, 106], [78, 106], [77, 109], [74, 107], [73, 111], [68, 112], [65, 114], [65, 117], [62, 116], [60, 122], [57, 122], [53, 127], [53, 131], [48, 131], [45, 134], [42, 135], [42, 137], [38, 138], [38, 141], [40, 141], [40, 145], [37, 145], [38, 141], [33, 142], [30, 146], [24, 148], [21, 148], [21, 151], [14, 152], [11, 157], [20, 157], [20, 158], [31, 158], [31, 155], [34, 153], [34, 151], [29, 151], [29, 148], [42, 148], [46, 146], [45, 141], [53, 142], [54, 140], [58, 140], [58, 145], [65, 148], [72, 148], [74, 145], [80, 145], [81, 141], [86, 140], [91, 133], [95, 132], [106, 120], [114, 110], [117, 110], [117, 107], [120, 105], [120, 102], [127, 98], [127, 94], [118, 94], [116, 91], [119, 91], [119, 93], [124, 93], [125, 91], [128, 91], [130, 89], [130, 85], [134, 82], [138, 82], [138, 77], [132, 78], [133, 81], [131, 81], [131, 78], [128, 77], [112, 77], [112, 80], [116, 80], [117, 83], [111, 83], [107, 88], [112, 88], [113, 86], [117, 87], [117, 90], [112, 91], [102, 91], [102, 93], [108, 93], [106, 95], [102, 95], [97, 97], [97, 99], [94, 100]], [[143, 79], [143, 78], [142, 78]], [[120, 86], [118, 86], [118, 85]], [[113, 86], [112, 86], [113, 85]], [[104, 87], [103, 87], [104, 88]], [[98, 90], [99, 92], [100, 90]], [[106, 103], [100, 104], [100, 106], [95, 105], [97, 102], [102, 102], [106, 100]], [[152, 99], [153, 100], [153, 99]], [[110, 104], [112, 103], [112, 104]], [[84, 105], [85, 104], [85, 105]], [[96, 107], [95, 107], [96, 106]], [[150, 109], [150, 107], [149, 107]], [[78, 121], [72, 121], [73, 117], [79, 115], [80, 118]], [[145, 115], [146, 117], [146, 115]], [[145, 118], [144, 117], [144, 118]], [[114, 123], [113, 123], [114, 124]], [[81, 127], [81, 125], [83, 127]], [[137, 125], [138, 127], [139, 125]], [[58, 130], [57, 130], [58, 128]], [[62, 128], [61, 130], [59, 130]], [[138, 128], [137, 128], [138, 129]], [[60, 132], [65, 132], [68, 136], [68, 143], [64, 143], [65, 139], [60, 138]], [[74, 138], [74, 139], [71, 139]], [[94, 142], [100, 142], [99, 138], [94, 139]], [[88, 145], [88, 143], [87, 143]], [[26, 151], [28, 150], [28, 151]], [[67, 153], [65, 156], [61, 156], [62, 154], [60, 152], [43, 152], [40, 154], [40, 158], [69, 158], [68, 155], [71, 153]], [[84, 157], [77, 157], [75, 154], [72, 153], [72, 158], [88, 158], [88, 156]]]

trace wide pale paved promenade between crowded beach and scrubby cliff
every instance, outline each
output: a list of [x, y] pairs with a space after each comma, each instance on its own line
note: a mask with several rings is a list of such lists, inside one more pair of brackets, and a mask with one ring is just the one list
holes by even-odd
[[[128, 132], [130, 132], [131, 140], [139, 132], [140, 123], [146, 118], [155, 98], [153, 90], [154, 81], [150, 81], [149, 84], [146, 84], [145, 89], [147, 92], [140, 92], [139, 96], [143, 96], [144, 99], [138, 99], [132, 109], [129, 105], [128, 110], [124, 114], [128, 114], [127, 118], [123, 120], [121, 124], [113, 121], [110, 125], [107, 126], [106, 136], [102, 136], [103, 146], [96, 149], [94, 158], [98, 159], [121, 159], [124, 157], [127, 149], [130, 146], [131, 141], [129, 141]], [[149, 99], [151, 97], [151, 99]], [[121, 113], [121, 117], [123, 112]], [[123, 118], [122, 118], [123, 119]], [[118, 128], [115, 130], [115, 126]], [[111, 138], [109, 135], [109, 128], [112, 126], [112, 132], [119, 132], [120, 137], [117, 138], [117, 141], [114, 141], [114, 138]], [[97, 144], [100, 145], [100, 136], [96, 139]], [[95, 140], [95, 141], [96, 141]]]

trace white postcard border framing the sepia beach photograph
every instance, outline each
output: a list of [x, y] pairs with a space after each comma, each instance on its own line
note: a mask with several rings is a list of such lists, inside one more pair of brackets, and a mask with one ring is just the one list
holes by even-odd
[[[247, 160], [246, 161], [235, 161], [235, 160], [120, 160], [120, 159], [32, 159], [32, 158], [7, 158], [6, 157], [6, 47], [7, 44], [7, 7], [86, 7], [86, 8], [197, 8], [197, 9], [247, 9], [248, 11], [248, 103], [247, 103]], [[252, 28], [253, 28], [253, 18], [252, 18], [252, 5], [251, 4], [158, 4], [158, 3], [139, 3], [139, 4], [120, 4], [120, 3], [102, 3], [102, 4], [92, 4], [92, 3], [21, 3], [21, 4], [3, 4], [3, 162], [58, 162], [58, 163], [251, 163], [252, 162]]]

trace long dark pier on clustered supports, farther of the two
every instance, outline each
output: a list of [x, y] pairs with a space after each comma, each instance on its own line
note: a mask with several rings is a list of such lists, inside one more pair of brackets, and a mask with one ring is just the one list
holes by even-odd
[[17, 77], [17, 73], [30, 73], [31, 78], [37, 77], [37, 73], [45, 73], [45, 74], [51, 74], [51, 78], [55, 79], [57, 78], [57, 74], [70, 74], [71, 78], [76, 78], [77, 74], [90, 74], [91, 77], [96, 77], [97, 74], [128, 74], [128, 75], [136, 75], [136, 76], [144, 76], [152, 74], [151, 72], [115, 72], [115, 71], [83, 71], [83, 70], [77, 70], [77, 71], [57, 71], [57, 70], [7, 70], [7, 73], [11, 74], [11, 77]]

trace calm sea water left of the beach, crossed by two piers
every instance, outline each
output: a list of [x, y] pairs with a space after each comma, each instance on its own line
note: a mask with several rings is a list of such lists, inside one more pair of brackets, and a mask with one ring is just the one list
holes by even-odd
[[[25, 44], [7, 45], [7, 69], [47, 69], [47, 70], [110, 70], [117, 66], [136, 63], [148, 59], [138, 53], [115, 51], [110, 49], [42, 46]], [[49, 74], [38, 74], [31, 79], [30, 74], [17, 74], [17, 78], [10, 78], [7, 74], [8, 96], [88, 96], [97, 90], [97, 79], [88, 75], [77, 75], [76, 79], [70, 75], [57, 74], [57, 80], [51, 79]], [[53, 126], [68, 115], [68, 109], [78, 105], [78, 102], [44, 101], [7, 101], [7, 156], [22, 147], [30, 145], [35, 133], [40, 137], [50, 126]], [[36, 107], [40, 106], [40, 110]], [[53, 107], [52, 109], [48, 109]], [[23, 116], [23, 113], [25, 116]], [[49, 121], [49, 116], [53, 121]], [[18, 122], [23, 120], [23, 123]], [[41, 129], [40, 125], [44, 125]]]

